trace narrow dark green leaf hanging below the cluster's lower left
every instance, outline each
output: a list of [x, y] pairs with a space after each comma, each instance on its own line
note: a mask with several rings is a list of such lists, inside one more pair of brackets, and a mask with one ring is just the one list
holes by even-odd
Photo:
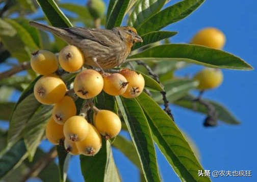
[[59, 159], [60, 182], [65, 182], [69, 167], [70, 154], [65, 151], [64, 146], [56, 146]]

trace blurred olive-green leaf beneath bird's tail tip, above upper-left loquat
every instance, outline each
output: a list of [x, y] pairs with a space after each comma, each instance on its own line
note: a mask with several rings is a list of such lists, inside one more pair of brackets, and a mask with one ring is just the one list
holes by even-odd
[[15, 19], [23, 28], [26, 29], [26, 31], [30, 34], [33, 41], [37, 45], [38, 48], [42, 48], [42, 40], [40, 35], [40, 30], [38, 28], [35, 28], [33, 26], [29, 25], [30, 20], [25, 18], [17, 18]]

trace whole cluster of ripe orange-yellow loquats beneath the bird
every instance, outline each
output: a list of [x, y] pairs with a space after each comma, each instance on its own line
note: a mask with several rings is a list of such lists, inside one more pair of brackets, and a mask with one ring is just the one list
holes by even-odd
[[[67, 72], [82, 70], [84, 55], [71, 45], [64, 47], [58, 58], [46, 50], [32, 53], [32, 69], [43, 75], [34, 86], [35, 98], [45, 105], [55, 104], [53, 115], [46, 125], [46, 138], [55, 145], [64, 143], [71, 155], [94, 156], [101, 148], [101, 135], [106, 140], [118, 135], [120, 118], [111, 111], [97, 109], [92, 102], [89, 105], [94, 111], [93, 124], [88, 123], [85, 115], [76, 115], [73, 98], [66, 94], [64, 81], [55, 74], [59, 64]], [[114, 74], [85, 69], [76, 75], [73, 89], [78, 97], [87, 100], [96, 97], [102, 90], [112, 96], [135, 98], [143, 91], [144, 84], [143, 76], [129, 69]]]

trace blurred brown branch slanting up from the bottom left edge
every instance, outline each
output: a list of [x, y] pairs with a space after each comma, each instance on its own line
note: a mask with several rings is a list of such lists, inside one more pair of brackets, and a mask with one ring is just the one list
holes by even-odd
[[54, 146], [50, 151], [45, 154], [45, 156], [38, 160], [38, 162], [31, 168], [31, 170], [25, 174], [25, 176], [20, 180], [20, 182], [27, 181], [30, 177], [38, 176], [38, 174], [49, 165], [57, 157], [56, 147]]

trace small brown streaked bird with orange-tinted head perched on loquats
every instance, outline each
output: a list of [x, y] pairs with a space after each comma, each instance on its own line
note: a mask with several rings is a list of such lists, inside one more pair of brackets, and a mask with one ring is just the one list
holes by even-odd
[[85, 64], [100, 69], [111, 69], [124, 62], [136, 42], [143, 42], [131, 26], [100, 29], [88, 27], [59, 28], [35, 21], [30, 26], [51, 32], [70, 45], [81, 49]]

